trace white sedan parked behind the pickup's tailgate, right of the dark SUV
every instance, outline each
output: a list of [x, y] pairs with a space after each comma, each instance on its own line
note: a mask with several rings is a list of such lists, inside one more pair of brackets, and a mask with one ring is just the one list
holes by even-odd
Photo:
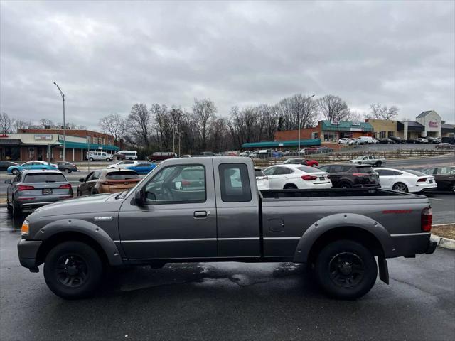
[[412, 169], [375, 168], [375, 172], [379, 174], [379, 183], [385, 190], [419, 193], [437, 188], [434, 176]]

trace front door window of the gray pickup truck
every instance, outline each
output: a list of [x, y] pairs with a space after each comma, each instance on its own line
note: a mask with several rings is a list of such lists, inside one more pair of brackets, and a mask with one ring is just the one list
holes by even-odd
[[145, 202], [205, 202], [205, 168], [201, 165], [162, 169], [144, 187]]

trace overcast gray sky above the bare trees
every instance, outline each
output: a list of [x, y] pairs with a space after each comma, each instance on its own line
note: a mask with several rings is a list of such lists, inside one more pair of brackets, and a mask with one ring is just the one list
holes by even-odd
[[455, 2], [1, 0], [0, 105], [97, 126], [132, 104], [190, 109], [336, 94], [455, 123]]

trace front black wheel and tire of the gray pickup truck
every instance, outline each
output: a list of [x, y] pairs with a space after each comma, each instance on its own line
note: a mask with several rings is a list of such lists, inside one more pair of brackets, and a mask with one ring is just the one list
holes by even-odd
[[102, 275], [102, 261], [97, 251], [82, 242], [58, 244], [45, 257], [45, 283], [50, 291], [61, 298], [76, 299], [92, 295]]

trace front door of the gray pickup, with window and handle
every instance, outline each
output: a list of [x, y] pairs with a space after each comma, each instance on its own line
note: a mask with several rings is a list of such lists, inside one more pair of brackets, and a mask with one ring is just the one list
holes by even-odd
[[120, 243], [127, 258], [217, 256], [212, 160], [182, 158], [160, 168], [140, 185], [145, 205], [125, 200], [120, 209]]

